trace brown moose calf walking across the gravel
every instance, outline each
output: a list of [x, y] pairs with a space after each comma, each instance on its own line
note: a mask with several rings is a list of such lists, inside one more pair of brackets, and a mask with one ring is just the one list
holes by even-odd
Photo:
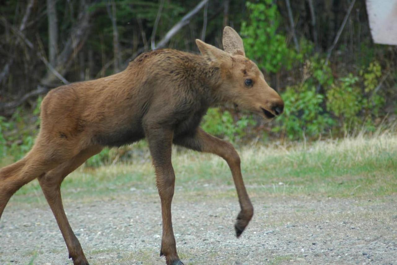
[[[199, 128], [208, 107], [240, 105], [265, 118], [280, 114], [283, 101], [258, 67], [244, 56], [241, 38], [225, 28], [225, 51], [197, 40], [202, 55], [154, 50], [137, 57], [127, 69], [109, 77], [53, 89], [42, 102], [41, 128], [32, 150], [0, 170], [0, 217], [21, 186], [39, 178], [42, 191], [64, 236], [74, 264], [88, 264], [67, 221], [61, 200], [62, 180], [101, 151], [146, 137], [161, 199], [163, 234], [160, 255], [181, 264], [171, 222], [175, 174], [172, 143], [214, 153], [227, 161], [239, 197], [237, 236], [252, 218], [240, 158], [233, 146]], [[245, 80], [252, 79], [252, 85]], [[5, 228], [4, 228], [5, 229]]]

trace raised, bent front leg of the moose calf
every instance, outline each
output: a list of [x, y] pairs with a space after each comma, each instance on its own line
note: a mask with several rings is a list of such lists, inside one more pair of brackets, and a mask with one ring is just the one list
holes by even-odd
[[240, 168], [240, 157], [233, 145], [204, 132], [201, 128], [198, 128], [193, 135], [180, 138], [176, 137], [173, 141], [177, 145], [200, 152], [212, 153], [225, 159], [231, 170], [241, 207], [234, 226], [236, 236], [239, 237], [251, 220], [254, 214], [254, 208], [244, 186]]

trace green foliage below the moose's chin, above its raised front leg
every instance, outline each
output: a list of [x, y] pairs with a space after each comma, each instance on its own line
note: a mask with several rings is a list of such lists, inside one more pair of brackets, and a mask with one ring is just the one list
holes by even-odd
[[244, 115], [235, 122], [229, 111], [222, 112], [219, 108], [210, 108], [204, 116], [201, 126], [212, 135], [235, 141], [241, 139], [245, 135], [245, 129], [254, 124], [252, 115]]

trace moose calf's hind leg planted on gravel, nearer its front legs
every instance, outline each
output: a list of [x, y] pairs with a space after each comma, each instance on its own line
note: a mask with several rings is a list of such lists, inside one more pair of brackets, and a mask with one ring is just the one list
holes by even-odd
[[89, 157], [99, 153], [101, 149], [102, 147], [85, 149], [72, 159], [60, 164], [39, 178], [41, 189], [46, 197], [48, 205], [50, 205], [52, 213], [54, 213], [54, 217], [66, 242], [69, 258], [73, 259], [75, 265], [85, 265], [88, 264], [88, 262], [80, 242], [73, 233], [69, 221], [67, 220], [62, 204], [60, 185], [62, 180], [64, 180], [69, 173], [78, 168]]

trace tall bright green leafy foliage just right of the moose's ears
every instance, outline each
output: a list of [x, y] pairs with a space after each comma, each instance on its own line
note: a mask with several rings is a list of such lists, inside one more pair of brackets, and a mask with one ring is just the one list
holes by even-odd
[[248, 21], [241, 23], [241, 35], [247, 57], [256, 59], [258, 67], [267, 72], [278, 72], [282, 66], [291, 69], [297, 58], [287, 47], [285, 35], [278, 33], [281, 15], [272, 0], [247, 2]]

